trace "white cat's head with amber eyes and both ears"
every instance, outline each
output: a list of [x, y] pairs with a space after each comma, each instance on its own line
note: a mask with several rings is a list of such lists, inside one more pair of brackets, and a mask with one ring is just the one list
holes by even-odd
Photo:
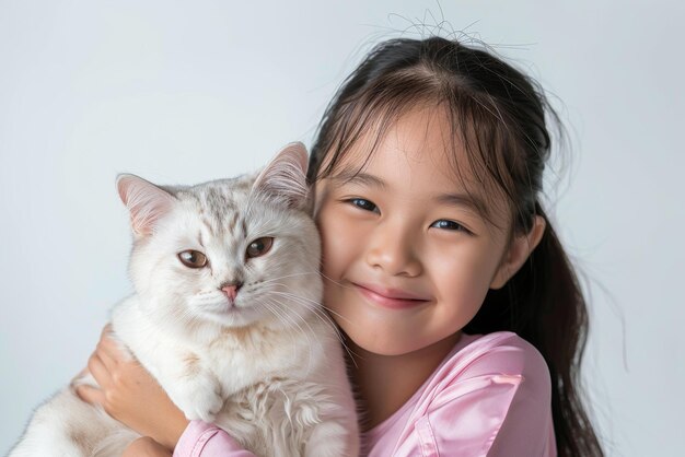
[[181, 326], [297, 326], [318, 306], [320, 239], [307, 156], [291, 143], [256, 175], [191, 187], [119, 175], [142, 306]]

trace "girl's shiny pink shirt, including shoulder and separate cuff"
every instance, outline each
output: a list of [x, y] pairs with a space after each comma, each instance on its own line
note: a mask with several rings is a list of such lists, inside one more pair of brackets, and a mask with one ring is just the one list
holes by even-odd
[[[362, 436], [362, 456], [556, 456], [549, 371], [510, 331], [465, 335], [414, 396]], [[191, 422], [174, 457], [254, 457]]]

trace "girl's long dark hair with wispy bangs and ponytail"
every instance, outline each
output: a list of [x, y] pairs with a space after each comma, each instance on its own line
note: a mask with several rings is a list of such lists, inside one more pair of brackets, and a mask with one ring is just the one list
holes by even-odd
[[[309, 180], [328, 176], [371, 127], [378, 139], [419, 104], [446, 110], [453, 138], [484, 186], [509, 203], [510, 236], [546, 220], [538, 246], [498, 290], [490, 290], [466, 333], [514, 331], [542, 353], [552, 376], [552, 410], [559, 456], [602, 456], [583, 407], [580, 366], [588, 312], [573, 268], [539, 196], [550, 154], [548, 124], [559, 126], [538, 84], [495, 56], [441, 37], [390, 39], [364, 58], [328, 105], [310, 157]], [[376, 141], [378, 141], [376, 139]], [[371, 152], [372, 153], [372, 152]], [[451, 159], [457, 177], [463, 164]]]

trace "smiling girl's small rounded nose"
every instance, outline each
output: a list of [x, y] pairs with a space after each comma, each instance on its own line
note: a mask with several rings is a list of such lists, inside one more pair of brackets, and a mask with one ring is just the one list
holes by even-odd
[[369, 238], [367, 263], [383, 269], [391, 276], [417, 277], [421, 273], [421, 262], [416, 256], [414, 237], [398, 227], [388, 224], [376, 226]]

